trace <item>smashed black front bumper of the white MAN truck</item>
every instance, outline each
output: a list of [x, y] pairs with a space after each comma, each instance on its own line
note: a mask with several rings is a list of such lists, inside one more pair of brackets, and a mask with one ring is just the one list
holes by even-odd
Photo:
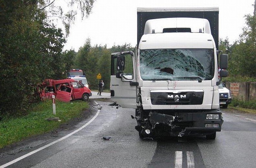
[[[219, 119], [206, 119], [206, 112], [196, 113], [177, 113], [175, 116], [151, 112], [149, 121], [152, 125], [151, 132], [168, 132], [168, 135], [182, 137], [185, 135], [207, 135], [216, 131], [221, 131], [223, 123], [221, 112], [211, 111], [210, 113], [219, 114]], [[207, 124], [214, 124], [217, 127], [206, 127]], [[155, 129], [160, 131], [156, 131]]]

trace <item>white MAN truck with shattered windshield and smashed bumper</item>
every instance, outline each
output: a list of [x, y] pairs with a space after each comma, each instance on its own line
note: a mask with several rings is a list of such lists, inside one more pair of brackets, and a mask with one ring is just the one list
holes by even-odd
[[218, 7], [137, 9], [136, 52], [112, 53], [110, 85], [113, 101], [135, 109], [141, 138], [221, 131], [218, 17]]

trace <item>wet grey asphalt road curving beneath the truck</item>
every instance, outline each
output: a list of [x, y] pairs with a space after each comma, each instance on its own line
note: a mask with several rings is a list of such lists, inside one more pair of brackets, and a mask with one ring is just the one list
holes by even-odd
[[[96, 92], [97, 93], [97, 92]], [[24, 144], [27, 150], [15, 149], [9, 155], [0, 154], [0, 167], [18, 157], [58, 140], [95, 119], [80, 131], [31, 154], [9, 167], [255, 167], [256, 161], [256, 116], [223, 111], [222, 131], [216, 140], [203, 136], [183, 139], [163, 138], [141, 140], [134, 129], [136, 120], [131, 119], [133, 109], [109, 106], [110, 101], [97, 99], [92, 116], [63, 131], [53, 139], [38, 139]], [[103, 93], [101, 98], [108, 98]], [[103, 100], [103, 101], [102, 101]], [[102, 107], [101, 107], [102, 106]], [[101, 110], [100, 110], [101, 108]], [[110, 136], [110, 140], [103, 140]], [[2, 156], [2, 157], [1, 157]], [[1, 166], [2, 165], [2, 166]]]

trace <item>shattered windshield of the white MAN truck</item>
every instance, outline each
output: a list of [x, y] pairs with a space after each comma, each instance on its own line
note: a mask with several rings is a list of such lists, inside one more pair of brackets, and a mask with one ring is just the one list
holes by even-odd
[[211, 80], [213, 49], [140, 50], [140, 75], [143, 80]]

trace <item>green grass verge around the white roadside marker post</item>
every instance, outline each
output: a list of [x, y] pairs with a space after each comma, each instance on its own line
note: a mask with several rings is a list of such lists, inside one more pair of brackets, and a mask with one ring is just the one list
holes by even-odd
[[[56, 115], [53, 115], [51, 100], [33, 104], [26, 116], [0, 121], [0, 149], [32, 135], [47, 133], [58, 128], [72, 118], [79, 117], [87, 108], [89, 108], [88, 102], [82, 100], [69, 103], [56, 100]], [[49, 117], [59, 117], [61, 121], [45, 120]]]

